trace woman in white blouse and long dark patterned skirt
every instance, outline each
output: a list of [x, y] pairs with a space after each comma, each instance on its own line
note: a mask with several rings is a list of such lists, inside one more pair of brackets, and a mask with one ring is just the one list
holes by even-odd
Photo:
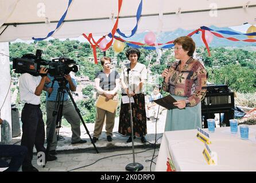
[[[146, 79], [147, 70], [145, 65], [143, 65], [142, 63], [138, 63], [140, 55], [141, 53], [138, 49], [130, 48], [126, 51], [126, 57], [129, 59], [130, 63], [127, 63], [123, 66], [123, 70], [120, 76], [123, 97], [121, 102], [118, 132], [123, 134], [124, 136], [130, 136], [127, 142], [131, 142], [131, 136], [134, 135], [137, 137], [141, 137], [142, 143], [145, 143], [147, 128], [143, 83]], [[128, 88], [128, 77], [130, 88]], [[131, 101], [134, 100], [134, 102], [131, 103], [134, 134], [131, 134], [129, 114], [130, 105], [128, 97], [130, 97]]]

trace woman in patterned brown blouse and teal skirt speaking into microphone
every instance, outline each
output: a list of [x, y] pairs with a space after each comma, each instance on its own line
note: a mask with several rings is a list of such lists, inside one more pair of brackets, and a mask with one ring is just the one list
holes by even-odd
[[206, 71], [193, 58], [195, 42], [184, 36], [174, 40], [174, 54], [179, 61], [162, 73], [163, 90], [169, 92], [177, 102], [177, 109], [168, 110], [165, 131], [201, 128], [201, 100], [206, 92]]

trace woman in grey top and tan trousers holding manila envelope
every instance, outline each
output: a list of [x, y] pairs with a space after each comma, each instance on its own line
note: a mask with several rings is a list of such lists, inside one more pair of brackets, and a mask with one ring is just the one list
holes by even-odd
[[[98, 98], [99, 95], [101, 95], [106, 97], [106, 101], [113, 100], [113, 98], [117, 95], [119, 87], [119, 74], [117, 73], [117, 71], [111, 69], [111, 58], [103, 57], [100, 59], [100, 62], [103, 66], [103, 70], [100, 70], [95, 75], [95, 88], [97, 90], [96, 97]], [[102, 133], [105, 116], [107, 141], [112, 141], [112, 132], [115, 122], [115, 111], [114, 113], [111, 113], [107, 110], [96, 107], [94, 137], [92, 138], [94, 143], [99, 140], [99, 136]]]

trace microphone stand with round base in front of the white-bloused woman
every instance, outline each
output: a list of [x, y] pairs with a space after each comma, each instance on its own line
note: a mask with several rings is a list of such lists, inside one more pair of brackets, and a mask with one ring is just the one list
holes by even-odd
[[130, 114], [130, 124], [131, 124], [131, 146], [133, 147], [133, 162], [131, 162], [130, 164], [126, 165], [125, 169], [130, 171], [130, 172], [136, 172], [136, 171], [140, 171], [143, 169], [143, 165], [139, 164], [138, 162], [135, 162], [135, 155], [134, 155], [134, 138], [133, 138], [133, 111], [131, 110], [131, 99], [130, 99], [130, 83], [129, 83], [129, 71], [131, 69], [128, 68], [127, 69], [127, 75], [128, 75], [128, 90], [129, 90], [129, 105], [130, 105], [130, 109], [129, 109], [129, 114]]

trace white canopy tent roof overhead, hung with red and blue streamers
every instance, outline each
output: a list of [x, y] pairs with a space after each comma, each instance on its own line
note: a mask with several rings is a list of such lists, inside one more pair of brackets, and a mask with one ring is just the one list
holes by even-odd
[[[123, 0], [118, 28], [128, 35], [136, 23], [140, 0]], [[46, 37], [55, 29], [68, 0], [1, 0], [0, 42]], [[111, 32], [118, 15], [118, 0], [73, 0], [54, 38], [101, 36]], [[114, 19], [111, 17], [115, 17]], [[198, 29], [200, 26], [237, 26], [256, 23], [256, 0], [144, 0], [137, 33]]]

